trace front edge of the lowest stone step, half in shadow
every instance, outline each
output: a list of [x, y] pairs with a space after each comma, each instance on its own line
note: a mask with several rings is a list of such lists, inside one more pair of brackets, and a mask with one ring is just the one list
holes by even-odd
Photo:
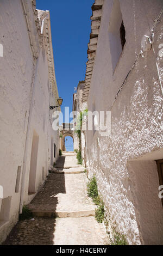
[[48, 211], [48, 210], [32, 210], [33, 216], [35, 217], [48, 217], [48, 218], [80, 218], [95, 216], [95, 210], [80, 210], [80, 211]]

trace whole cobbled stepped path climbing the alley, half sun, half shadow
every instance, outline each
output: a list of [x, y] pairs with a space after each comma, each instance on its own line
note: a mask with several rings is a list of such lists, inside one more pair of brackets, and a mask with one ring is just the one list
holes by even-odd
[[[77, 167], [76, 154], [66, 153], [58, 169]], [[72, 170], [73, 168], [71, 168]], [[66, 170], [66, 169], [65, 169]], [[51, 173], [28, 207], [32, 220], [19, 221], [4, 245], [105, 245], [103, 223], [95, 215], [96, 206], [87, 197], [86, 174]], [[47, 217], [48, 216], [48, 217]], [[54, 218], [54, 216], [58, 216]]]

